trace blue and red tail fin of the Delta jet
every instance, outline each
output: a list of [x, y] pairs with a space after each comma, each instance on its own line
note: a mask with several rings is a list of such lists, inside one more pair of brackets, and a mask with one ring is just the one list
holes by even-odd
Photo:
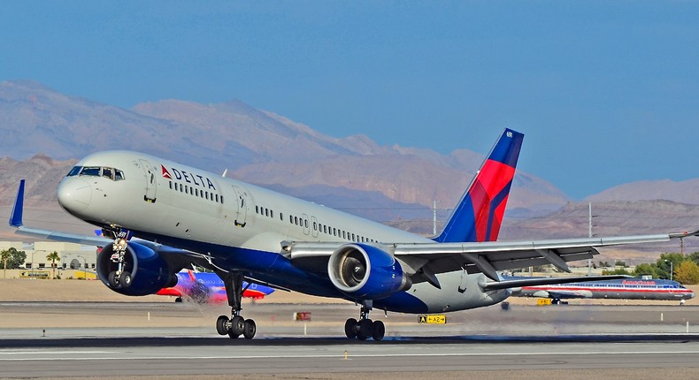
[[503, 131], [435, 241], [497, 240], [523, 140], [522, 133]]

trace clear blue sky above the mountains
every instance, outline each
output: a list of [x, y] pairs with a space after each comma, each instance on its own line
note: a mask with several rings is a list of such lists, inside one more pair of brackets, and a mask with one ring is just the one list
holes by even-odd
[[699, 177], [699, 2], [11, 1], [0, 80], [240, 99], [336, 137], [487, 153], [575, 198]]

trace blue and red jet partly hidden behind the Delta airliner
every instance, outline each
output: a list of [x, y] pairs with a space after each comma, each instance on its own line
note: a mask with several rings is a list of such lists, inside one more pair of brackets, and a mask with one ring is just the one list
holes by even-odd
[[[242, 283], [242, 297], [261, 300], [274, 289], [265, 285]], [[177, 285], [164, 287], [156, 292], [157, 295], [176, 297], [175, 302], [183, 299], [194, 300], [197, 303], [222, 303], [228, 300], [226, 285], [215, 273], [181, 270], [177, 273]]]

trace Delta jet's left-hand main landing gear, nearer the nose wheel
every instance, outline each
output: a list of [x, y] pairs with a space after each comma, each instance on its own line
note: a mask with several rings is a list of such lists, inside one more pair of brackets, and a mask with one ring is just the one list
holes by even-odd
[[251, 319], [245, 319], [241, 315], [241, 300], [242, 293], [245, 289], [242, 287], [242, 274], [229, 273], [223, 280], [226, 285], [226, 294], [228, 296], [228, 305], [231, 307], [230, 319], [226, 315], [220, 315], [216, 320], [216, 331], [220, 335], [228, 335], [235, 339], [241, 335], [251, 339], [255, 337], [257, 325]]

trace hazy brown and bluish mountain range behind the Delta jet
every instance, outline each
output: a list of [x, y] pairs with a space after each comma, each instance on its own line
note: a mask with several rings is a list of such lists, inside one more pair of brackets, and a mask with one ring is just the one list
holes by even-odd
[[[0, 83], [0, 133], [0, 207], [9, 214], [17, 183], [26, 178], [27, 215], [75, 229], [87, 227], [75, 219], [65, 223], [56, 186], [77, 159], [99, 150], [137, 150], [227, 170], [236, 179], [421, 233], [432, 230], [433, 201], [443, 220], [483, 160], [468, 149], [441, 155], [380, 146], [365, 135], [326, 136], [239, 101], [162, 100], [127, 110], [27, 80]], [[699, 179], [635, 182], [572, 202], [545, 179], [518, 171], [502, 236], [587, 236], [588, 201], [600, 233], [699, 226], [698, 190]]]

